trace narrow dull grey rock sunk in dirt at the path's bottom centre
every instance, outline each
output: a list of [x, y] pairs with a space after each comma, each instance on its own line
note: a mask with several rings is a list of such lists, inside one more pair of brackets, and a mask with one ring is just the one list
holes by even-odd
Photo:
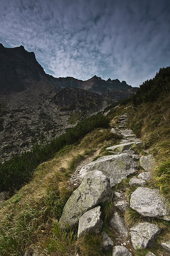
[[117, 230], [123, 237], [128, 237], [124, 219], [119, 216], [118, 212], [114, 212], [114, 215], [110, 220], [110, 226]]

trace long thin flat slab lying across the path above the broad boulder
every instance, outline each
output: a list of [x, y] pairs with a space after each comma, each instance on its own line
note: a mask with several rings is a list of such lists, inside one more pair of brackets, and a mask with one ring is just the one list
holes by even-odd
[[122, 152], [124, 150], [134, 150], [135, 146], [144, 147], [144, 144], [143, 142], [126, 142], [111, 147], [107, 147], [106, 150], [116, 150], [118, 152]]

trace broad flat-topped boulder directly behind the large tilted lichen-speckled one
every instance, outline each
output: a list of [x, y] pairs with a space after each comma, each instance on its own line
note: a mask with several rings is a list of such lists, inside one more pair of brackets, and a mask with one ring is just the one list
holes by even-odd
[[95, 169], [109, 177], [110, 185], [113, 187], [129, 174], [136, 172], [138, 165], [128, 154], [107, 155], [83, 166], [80, 175], [83, 178], [89, 171]]

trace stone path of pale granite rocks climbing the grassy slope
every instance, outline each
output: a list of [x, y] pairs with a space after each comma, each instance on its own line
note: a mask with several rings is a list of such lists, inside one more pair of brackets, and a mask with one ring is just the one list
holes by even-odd
[[[76, 170], [76, 180], [81, 181], [81, 184], [68, 199], [59, 221], [62, 229], [67, 229], [68, 225], [74, 227], [78, 223], [78, 239], [87, 233], [99, 234], [103, 225], [101, 207], [106, 202], [112, 202], [114, 213], [109, 221], [109, 230], [116, 235], [116, 243], [106, 231], [102, 233], [103, 250], [112, 249], [112, 256], [131, 256], [135, 249], [151, 248], [162, 233], [161, 227], [153, 219], [170, 221], [165, 198], [159, 195], [159, 189], [151, 187], [156, 161], [153, 155], [141, 157], [135, 154], [137, 145], [143, 148], [145, 145], [132, 130], [126, 129], [126, 121], [125, 114], [120, 117], [118, 130], [111, 129], [113, 133], [122, 134], [123, 139], [118, 145], [106, 148], [110, 155], [83, 166], [79, 173]], [[134, 176], [129, 181], [129, 187], [125, 191], [115, 189], [114, 186], [130, 174]], [[76, 182], [75, 174], [72, 177]], [[133, 187], [135, 189], [129, 201], [127, 194]], [[131, 210], [141, 215], [141, 218], [129, 228], [126, 216]], [[169, 255], [170, 241], [162, 242], [161, 246], [165, 249], [163, 255]], [[155, 254], [148, 252], [146, 256]]]

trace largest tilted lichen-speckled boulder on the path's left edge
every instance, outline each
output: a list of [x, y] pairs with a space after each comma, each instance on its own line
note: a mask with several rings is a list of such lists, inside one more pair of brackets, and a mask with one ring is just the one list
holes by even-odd
[[67, 228], [76, 225], [79, 218], [95, 206], [112, 200], [113, 192], [109, 178], [102, 172], [93, 170], [87, 173], [80, 186], [72, 193], [64, 206], [59, 225]]

